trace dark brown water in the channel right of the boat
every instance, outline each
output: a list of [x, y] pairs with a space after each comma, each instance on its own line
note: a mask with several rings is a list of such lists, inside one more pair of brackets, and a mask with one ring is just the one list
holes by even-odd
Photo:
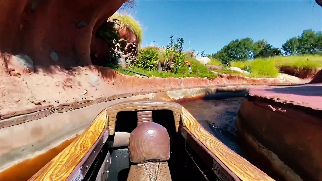
[[234, 97], [222, 100], [179, 101], [178, 103], [184, 106], [204, 129], [248, 160], [237, 143], [235, 127], [237, 112], [243, 99], [243, 97]]

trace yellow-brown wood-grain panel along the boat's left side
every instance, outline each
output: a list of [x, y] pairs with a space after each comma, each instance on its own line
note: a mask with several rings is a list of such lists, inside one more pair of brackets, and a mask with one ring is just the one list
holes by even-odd
[[103, 132], [106, 119], [107, 110], [104, 109], [79, 138], [48, 162], [29, 181], [66, 180]]

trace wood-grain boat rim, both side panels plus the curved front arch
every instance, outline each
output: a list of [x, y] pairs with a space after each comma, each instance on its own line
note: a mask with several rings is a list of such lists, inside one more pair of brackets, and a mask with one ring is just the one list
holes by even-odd
[[[67, 180], [74, 176], [79, 167], [88, 160], [92, 149], [96, 147], [104, 132], [109, 134], [115, 132], [115, 120], [119, 111], [138, 111], [138, 110], [172, 110], [175, 117], [175, 128], [178, 132], [180, 119], [181, 124], [193, 137], [218, 158], [218, 162], [228, 168], [228, 174], [232, 173], [240, 180], [273, 180], [257, 167], [236, 154], [216, 137], [208, 133], [197, 122], [188, 110], [175, 102], [159, 100], [131, 100], [118, 103], [102, 110], [90, 127], [84, 133], [66, 147], [61, 153], [54, 157], [41, 170], [39, 170], [30, 181], [39, 180]], [[112, 131], [113, 132], [112, 132]], [[198, 143], [198, 141], [197, 141]], [[200, 144], [198, 143], [198, 144]], [[208, 152], [209, 154], [209, 152]], [[232, 176], [233, 178], [236, 178]], [[236, 180], [236, 179], [234, 179]]]

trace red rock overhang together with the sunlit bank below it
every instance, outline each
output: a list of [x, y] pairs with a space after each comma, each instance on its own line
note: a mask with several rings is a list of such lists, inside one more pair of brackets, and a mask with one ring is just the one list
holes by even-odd
[[92, 55], [101, 59], [107, 50], [94, 34], [124, 1], [0, 0], [0, 128], [10, 126], [1, 120], [13, 116], [24, 122], [23, 115], [31, 112], [45, 117], [57, 107], [162, 90], [303, 82], [225, 75], [137, 78], [93, 66]]

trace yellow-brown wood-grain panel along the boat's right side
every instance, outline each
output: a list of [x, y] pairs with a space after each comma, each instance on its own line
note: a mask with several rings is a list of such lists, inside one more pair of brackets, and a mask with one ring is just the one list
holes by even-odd
[[185, 127], [241, 180], [274, 180], [208, 133], [184, 107], [182, 114]]

